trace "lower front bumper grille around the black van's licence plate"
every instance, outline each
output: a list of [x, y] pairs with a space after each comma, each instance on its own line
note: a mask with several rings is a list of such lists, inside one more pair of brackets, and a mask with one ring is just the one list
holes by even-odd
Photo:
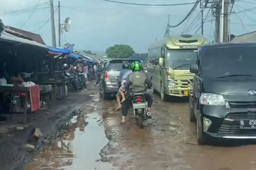
[[223, 121], [217, 134], [219, 136], [256, 136], [255, 129], [240, 129], [240, 119], [256, 119], [255, 113], [229, 113], [228, 119], [234, 121]]

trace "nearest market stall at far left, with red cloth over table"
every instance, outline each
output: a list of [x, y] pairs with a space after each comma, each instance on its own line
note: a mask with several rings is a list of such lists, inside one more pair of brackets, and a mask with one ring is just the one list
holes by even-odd
[[47, 46], [28, 39], [0, 33], [0, 109], [1, 114], [23, 113], [24, 124], [27, 113], [35, 114], [40, 109], [37, 74], [30, 80], [21, 78], [37, 72], [37, 59], [48, 54]]

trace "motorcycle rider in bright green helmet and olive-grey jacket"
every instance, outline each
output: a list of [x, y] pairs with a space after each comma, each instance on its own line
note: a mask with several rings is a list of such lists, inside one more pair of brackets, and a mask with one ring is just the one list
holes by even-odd
[[132, 105], [132, 98], [134, 94], [144, 94], [145, 100], [148, 102], [147, 112], [150, 112], [153, 104], [153, 99], [150, 94], [147, 94], [147, 88], [152, 87], [152, 81], [147, 74], [142, 71], [142, 65], [139, 61], [134, 61], [130, 66], [132, 73], [128, 75], [125, 82], [125, 88], [128, 90], [126, 93], [126, 100], [122, 106], [122, 120], [121, 123], [125, 123], [125, 116], [127, 116], [128, 110]]

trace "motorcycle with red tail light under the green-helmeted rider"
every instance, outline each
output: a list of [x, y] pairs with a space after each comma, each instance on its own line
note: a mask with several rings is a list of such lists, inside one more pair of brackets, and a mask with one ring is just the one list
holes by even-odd
[[147, 112], [147, 101], [143, 94], [134, 94], [132, 99], [133, 117], [139, 129], [143, 128], [143, 121], [151, 119], [151, 113]]

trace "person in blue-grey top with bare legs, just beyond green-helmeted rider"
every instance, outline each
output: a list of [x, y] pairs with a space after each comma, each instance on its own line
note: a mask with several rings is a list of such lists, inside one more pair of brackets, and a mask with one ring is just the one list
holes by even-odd
[[[124, 89], [124, 87], [122, 87], [122, 82], [124, 83], [124, 81], [126, 81], [128, 75], [130, 73], [132, 73], [132, 71], [130, 69], [130, 64], [128, 62], [123, 63], [122, 67], [123, 67], [123, 70], [119, 73], [119, 76], [117, 79], [118, 84], [119, 84], [119, 90], [116, 94], [116, 101], [117, 101], [117, 105], [118, 105], [118, 107], [116, 108], [116, 111], [122, 107], [122, 105], [121, 105], [122, 102], [120, 101], [120, 96], [124, 95], [124, 94], [122, 94], [122, 91], [126, 90], [126, 89]], [[122, 101], [124, 101], [124, 100], [125, 100], [125, 98], [124, 98], [124, 96], [122, 96]]]

